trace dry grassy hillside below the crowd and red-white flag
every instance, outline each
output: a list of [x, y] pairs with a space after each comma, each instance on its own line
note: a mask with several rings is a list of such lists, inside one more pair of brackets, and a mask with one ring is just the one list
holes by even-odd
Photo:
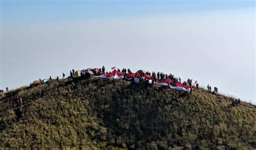
[[[11, 107], [22, 96], [24, 106]], [[0, 147], [256, 148], [256, 106], [124, 80], [62, 80], [0, 98]]]

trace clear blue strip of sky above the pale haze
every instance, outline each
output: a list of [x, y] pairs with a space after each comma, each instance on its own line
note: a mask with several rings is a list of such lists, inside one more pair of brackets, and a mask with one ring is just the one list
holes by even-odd
[[2, 25], [253, 8], [254, 1], [1, 1]]

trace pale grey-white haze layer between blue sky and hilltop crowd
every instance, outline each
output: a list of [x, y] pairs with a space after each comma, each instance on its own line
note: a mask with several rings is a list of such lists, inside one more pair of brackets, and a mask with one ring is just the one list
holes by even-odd
[[172, 73], [256, 103], [255, 12], [1, 26], [1, 89], [102, 65]]

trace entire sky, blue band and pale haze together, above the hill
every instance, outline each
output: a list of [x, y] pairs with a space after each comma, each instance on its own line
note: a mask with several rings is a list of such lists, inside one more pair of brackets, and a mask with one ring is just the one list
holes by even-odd
[[255, 100], [254, 1], [1, 1], [0, 88], [117, 66]]

